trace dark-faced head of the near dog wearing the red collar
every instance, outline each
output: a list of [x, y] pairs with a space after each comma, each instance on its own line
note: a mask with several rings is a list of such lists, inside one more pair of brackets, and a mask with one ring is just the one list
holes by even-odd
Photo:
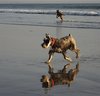
[[41, 46], [43, 48], [49, 48], [51, 45], [51, 37], [49, 34], [45, 34], [45, 38], [43, 39], [43, 43], [41, 44]]

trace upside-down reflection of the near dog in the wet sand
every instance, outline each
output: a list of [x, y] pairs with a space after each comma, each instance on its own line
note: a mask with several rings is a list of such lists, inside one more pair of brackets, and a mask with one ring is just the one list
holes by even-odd
[[48, 65], [49, 68], [49, 76], [42, 75], [41, 82], [43, 88], [50, 88], [55, 85], [68, 85], [70, 87], [71, 83], [75, 80], [75, 77], [77, 76], [79, 72], [79, 63], [76, 64], [76, 67], [73, 69], [70, 69], [71, 64], [66, 64], [62, 70], [59, 70], [58, 72], [54, 72], [53, 68]]

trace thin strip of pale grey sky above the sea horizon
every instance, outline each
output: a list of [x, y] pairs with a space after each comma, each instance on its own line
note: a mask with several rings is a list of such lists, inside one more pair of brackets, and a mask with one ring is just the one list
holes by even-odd
[[0, 0], [0, 3], [100, 3], [100, 0]]

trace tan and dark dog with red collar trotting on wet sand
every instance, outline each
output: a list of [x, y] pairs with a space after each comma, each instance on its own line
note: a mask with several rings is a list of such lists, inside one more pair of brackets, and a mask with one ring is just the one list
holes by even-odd
[[72, 62], [72, 59], [66, 55], [66, 51], [68, 49], [75, 52], [76, 58], [79, 58], [80, 50], [77, 48], [76, 40], [71, 34], [60, 39], [51, 37], [49, 34], [45, 34], [45, 38], [43, 39], [41, 46], [43, 48], [51, 47], [49, 50], [49, 58], [45, 62], [48, 64], [51, 62], [54, 53], [62, 53], [65, 60]]

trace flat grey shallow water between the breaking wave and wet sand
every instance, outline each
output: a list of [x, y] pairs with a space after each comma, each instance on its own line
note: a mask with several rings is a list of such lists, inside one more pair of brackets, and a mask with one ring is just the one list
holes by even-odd
[[100, 17], [65, 15], [61, 23], [55, 15], [0, 13], [0, 24], [100, 29]]

